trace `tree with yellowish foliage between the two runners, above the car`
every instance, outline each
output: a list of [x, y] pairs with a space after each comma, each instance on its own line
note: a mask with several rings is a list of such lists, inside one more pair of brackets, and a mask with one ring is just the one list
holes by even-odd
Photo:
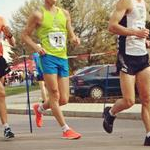
[[[77, 48], [69, 45], [69, 55], [107, 53], [116, 50], [115, 39], [107, 31], [109, 10], [111, 9], [108, 1], [90, 0], [89, 5], [89, 1], [86, 0], [62, 0], [62, 6], [71, 12], [74, 31], [81, 38], [82, 43]], [[74, 4], [72, 4], [73, 2]], [[112, 62], [115, 62], [115, 57], [97, 56], [84, 60], [70, 60], [73, 70], [82, 66]]]

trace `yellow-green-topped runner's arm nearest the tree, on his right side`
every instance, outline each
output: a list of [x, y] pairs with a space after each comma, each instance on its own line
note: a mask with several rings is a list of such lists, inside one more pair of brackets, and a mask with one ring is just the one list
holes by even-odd
[[66, 18], [67, 18], [67, 31], [68, 31], [68, 38], [70, 42], [74, 45], [80, 45], [80, 39], [75, 35], [72, 25], [71, 25], [71, 17], [68, 11], [63, 10]]

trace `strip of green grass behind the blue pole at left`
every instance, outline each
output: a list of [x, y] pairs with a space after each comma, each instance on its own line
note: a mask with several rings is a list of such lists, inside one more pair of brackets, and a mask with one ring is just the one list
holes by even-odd
[[[29, 91], [35, 91], [38, 89], [40, 89], [38, 84], [36, 84], [35, 86], [29, 86]], [[21, 94], [26, 92], [26, 86], [6, 86], [5, 91], [6, 96]]]

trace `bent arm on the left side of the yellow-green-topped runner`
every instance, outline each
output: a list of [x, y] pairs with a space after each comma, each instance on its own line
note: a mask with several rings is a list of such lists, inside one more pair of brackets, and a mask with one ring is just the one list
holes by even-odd
[[37, 43], [35, 43], [31, 38], [32, 33], [39, 26], [39, 22], [41, 18], [42, 18], [42, 14], [38, 11], [31, 14], [31, 16], [28, 19], [25, 29], [22, 31], [22, 40], [28, 46], [30, 46], [35, 52], [38, 52], [39, 54], [44, 55], [45, 54], [44, 49], [38, 46]]

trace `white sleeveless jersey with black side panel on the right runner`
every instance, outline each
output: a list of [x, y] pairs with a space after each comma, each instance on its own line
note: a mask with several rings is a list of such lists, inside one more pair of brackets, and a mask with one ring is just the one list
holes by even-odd
[[[146, 6], [144, 0], [132, 0], [132, 11], [124, 16], [120, 24], [127, 28], [143, 29], [146, 24]], [[120, 41], [122, 40], [122, 41]], [[146, 39], [136, 36], [119, 36], [119, 51], [126, 55], [143, 56], [147, 54]]]

